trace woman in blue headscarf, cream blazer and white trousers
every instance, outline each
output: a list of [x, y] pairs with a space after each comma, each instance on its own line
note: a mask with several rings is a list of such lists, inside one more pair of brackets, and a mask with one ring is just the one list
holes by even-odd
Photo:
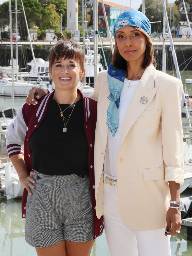
[[170, 256], [167, 234], [180, 233], [182, 82], [155, 69], [150, 29], [139, 11], [118, 16], [112, 63], [90, 95], [98, 101], [96, 214], [111, 256]]

